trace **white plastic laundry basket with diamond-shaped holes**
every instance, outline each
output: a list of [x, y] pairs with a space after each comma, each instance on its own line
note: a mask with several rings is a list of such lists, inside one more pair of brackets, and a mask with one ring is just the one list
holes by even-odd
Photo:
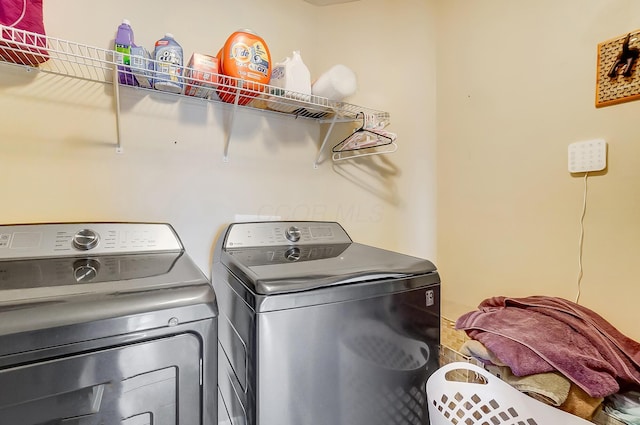
[[[459, 382], [447, 373], [460, 370], [483, 382]], [[463, 362], [442, 366], [427, 380], [431, 425], [593, 425], [585, 419], [521, 393], [486, 370]]]

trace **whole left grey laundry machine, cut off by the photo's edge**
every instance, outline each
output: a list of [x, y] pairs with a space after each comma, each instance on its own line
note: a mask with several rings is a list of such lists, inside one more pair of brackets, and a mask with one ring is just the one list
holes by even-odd
[[217, 314], [168, 224], [0, 226], [0, 424], [216, 424]]

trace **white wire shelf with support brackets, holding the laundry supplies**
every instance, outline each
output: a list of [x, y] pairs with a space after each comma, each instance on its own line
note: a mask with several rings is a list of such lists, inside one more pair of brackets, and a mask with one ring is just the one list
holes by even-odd
[[[122, 152], [120, 129], [120, 86], [122, 84], [116, 75], [117, 73], [122, 73], [128, 79], [135, 80], [135, 73], [132, 72], [131, 68], [118, 69], [118, 59], [121, 59], [119, 55], [121, 53], [113, 50], [101, 49], [0, 25], [0, 60], [25, 67], [29, 71], [35, 70], [37, 72], [113, 85], [116, 105], [116, 152]], [[153, 69], [155, 61], [148, 59], [148, 63], [150, 64], [150, 69]], [[285, 91], [279, 87], [252, 83], [222, 74], [209, 73], [203, 75], [199, 74], [196, 69], [187, 66], [181, 66], [178, 69], [182, 75], [181, 91], [175, 94], [163, 93], [168, 96], [189, 97], [185, 93], [196, 91], [199, 93], [198, 97], [202, 97], [205, 101], [226, 104], [233, 109], [226, 129], [225, 161], [228, 160], [233, 122], [238, 108], [258, 109], [294, 118], [329, 123], [329, 128], [314, 162], [315, 167], [320, 162], [326, 143], [336, 123], [358, 121], [358, 116], [362, 114], [373, 117], [381, 123], [389, 123], [390, 121], [389, 113], [371, 108], [336, 102], [320, 96]], [[135, 83], [135, 86], [139, 90], [158, 92], [152, 88], [140, 87], [137, 83]], [[194, 90], [189, 90], [190, 88]]]

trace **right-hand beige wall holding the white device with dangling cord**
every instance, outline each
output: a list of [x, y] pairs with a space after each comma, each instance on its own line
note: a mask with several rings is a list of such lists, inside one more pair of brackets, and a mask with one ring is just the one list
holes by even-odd
[[640, 4], [437, 4], [445, 316], [494, 295], [576, 299], [584, 179], [567, 171], [567, 147], [604, 138], [608, 169], [587, 180], [580, 303], [640, 338], [640, 102], [594, 106], [597, 44], [640, 28]]

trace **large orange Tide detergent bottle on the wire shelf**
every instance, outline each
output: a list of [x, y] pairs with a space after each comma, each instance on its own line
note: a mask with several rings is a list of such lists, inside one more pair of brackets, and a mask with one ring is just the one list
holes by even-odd
[[[246, 105], [265, 90], [271, 79], [271, 55], [265, 41], [255, 32], [241, 29], [229, 36], [218, 52], [220, 72], [232, 78], [222, 77], [218, 86], [218, 97], [228, 103], [236, 101]], [[242, 81], [240, 81], [242, 80]]]

